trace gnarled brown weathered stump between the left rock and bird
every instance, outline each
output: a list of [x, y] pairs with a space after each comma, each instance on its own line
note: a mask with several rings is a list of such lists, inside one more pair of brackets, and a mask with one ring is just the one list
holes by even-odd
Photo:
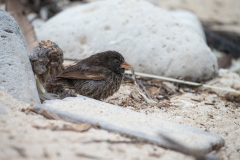
[[39, 47], [30, 52], [29, 59], [42, 100], [56, 98], [49, 93], [54, 93], [61, 98], [75, 95], [74, 91], [66, 90], [64, 85], [52, 83], [64, 70], [63, 51], [56, 43], [49, 40], [41, 41]]

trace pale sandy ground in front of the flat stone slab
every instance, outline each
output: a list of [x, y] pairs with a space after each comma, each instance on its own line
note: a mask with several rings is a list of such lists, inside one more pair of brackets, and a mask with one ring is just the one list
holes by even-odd
[[0, 159], [192, 159], [155, 145], [126, 138], [117, 133], [90, 128], [85, 132], [73, 124], [49, 120], [32, 112], [30, 106], [1, 92], [10, 109], [0, 115]]

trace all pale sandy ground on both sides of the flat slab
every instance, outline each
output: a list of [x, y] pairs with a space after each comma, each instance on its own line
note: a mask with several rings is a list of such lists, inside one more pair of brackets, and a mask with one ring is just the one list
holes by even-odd
[[[235, 75], [235, 74], [234, 74]], [[231, 77], [231, 76], [228, 76]], [[236, 75], [237, 78], [239, 76]], [[225, 77], [226, 78], [226, 77]], [[223, 78], [216, 78], [221, 81]], [[229, 80], [231, 81], [231, 80]], [[215, 93], [169, 82], [144, 80], [158, 103], [150, 105], [129, 82], [108, 98], [109, 103], [221, 135], [225, 146], [214, 151], [220, 159], [240, 159], [240, 107]], [[223, 85], [223, 84], [222, 84]], [[49, 120], [29, 111], [29, 104], [0, 93], [8, 114], [0, 115], [0, 159], [193, 159], [153, 144], [90, 127]], [[162, 98], [164, 95], [165, 98]]]

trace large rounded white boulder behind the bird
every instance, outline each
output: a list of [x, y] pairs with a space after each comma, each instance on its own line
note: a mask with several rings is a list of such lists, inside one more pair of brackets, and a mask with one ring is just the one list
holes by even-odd
[[216, 75], [216, 57], [178, 17], [142, 0], [105, 0], [65, 10], [37, 30], [65, 58], [116, 50], [136, 71], [191, 80]]

